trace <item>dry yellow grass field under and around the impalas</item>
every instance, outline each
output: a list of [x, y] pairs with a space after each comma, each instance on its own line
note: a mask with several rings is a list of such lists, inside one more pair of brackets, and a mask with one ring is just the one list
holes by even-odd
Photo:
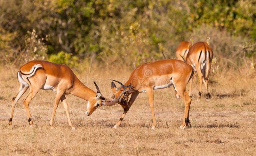
[[[106, 79], [128, 78], [132, 69], [97, 66], [74, 70], [83, 82], [98, 81], [104, 96], [112, 91]], [[114, 69], [114, 70], [113, 70]], [[69, 113], [76, 127], [68, 126], [62, 104], [56, 111], [55, 129], [49, 126], [56, 92], [40, 90], [29, 107], [34, 122], [30, 128], [22, 99], [14, 110], [13, 125], [8, 125], [12, 97], [18, 91], [18, 67], [0, 69], [0, 153], [1, 155], [255, 155], [256, 82], [255, 72], [246, 67], [226, 69], [210, 76], [212, 100], [203, 96], [197, 102], [198, 81], [193, 82], [190, 107], [191, 127], [180, 130], [184, 101], [174, 97], [174, 89], [154, 91], [157, 126], [151, 130], [151, 112], [146, 93], [140, 93], [122, 124], [114, 129], [123, 109], [120, 105], [102, 106], [90, 117], [87, 102], [68, 95]], [[102, 84], [102, 85], [100, 85]], [[110, 84], [110, 82], [108, 82]], [[94, 91], [95, 86], [87, 85]], [[187, 87], [188, 88], [188, 87]], [[205, 93], [204, 86], [202, 87]]]

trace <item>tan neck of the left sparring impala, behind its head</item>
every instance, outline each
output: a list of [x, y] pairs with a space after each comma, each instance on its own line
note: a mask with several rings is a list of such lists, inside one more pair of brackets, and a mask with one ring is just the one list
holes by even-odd
[[96, 96], [96, 92], [92, 89], [86, 87], [81, 81], [77, 80], [74, 82], [72, 95], [80, 97], [86, 101], [89, 101], [91, 98]]

